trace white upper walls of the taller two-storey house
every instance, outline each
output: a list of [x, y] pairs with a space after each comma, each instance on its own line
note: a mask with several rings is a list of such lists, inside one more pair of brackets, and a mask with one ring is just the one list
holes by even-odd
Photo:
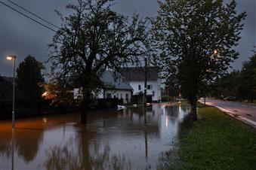
[[[133, 94], [140, 93], [140, 91], [144, 91], [144, 81], [129, 81], [130, 86], [133, 88]], [[138, 87], [141, 87], [139, 90]], [[147, 95], [152, 95], [153, 101], [159, 101], [161, 100], [161, 81], [159, 80], [149, 80], [147, 81], [147, 85], [152, 85], [151, 90], [147, 90]], [[153, 91], [155, 92], [155, 95], [153, 96]]]

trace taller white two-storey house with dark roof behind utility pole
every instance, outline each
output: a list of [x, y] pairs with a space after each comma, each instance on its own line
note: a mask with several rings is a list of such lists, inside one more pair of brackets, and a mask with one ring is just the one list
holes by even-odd
[[[133, 89], [133, 94], [144, 92], [145, 82], [145, 68], [131, 67], [123, 68], [122, 78], [124, 82], [130, 84]], [[161, 78], [159, 68], [147, 68], [147, 101], [160, 102], [161, 101]]]

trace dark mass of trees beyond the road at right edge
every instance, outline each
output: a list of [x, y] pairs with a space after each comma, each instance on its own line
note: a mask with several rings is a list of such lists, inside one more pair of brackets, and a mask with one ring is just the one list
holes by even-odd
[[256, 100], [256, 53], [244, 62], [241, 71], [232, 71], [214, 84], [214, 97], [236, 96], [240, 102]]

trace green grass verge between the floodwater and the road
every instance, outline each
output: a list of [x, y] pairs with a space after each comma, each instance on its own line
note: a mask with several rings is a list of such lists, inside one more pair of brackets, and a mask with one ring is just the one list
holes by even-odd
[[211, 106], [199, 104], [199, 117], [180, 136], [175, 169], [256, 169], [256, 129]]

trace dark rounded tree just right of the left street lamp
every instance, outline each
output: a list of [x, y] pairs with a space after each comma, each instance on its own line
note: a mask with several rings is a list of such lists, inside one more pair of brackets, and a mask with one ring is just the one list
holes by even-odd
[[45, 69], [42, 62], [33, 56], [26, 56], [17, 68], [17, 91], [18, 97], [25, 102], [36, 102], [41, 99], [42, 87], [39, 83], [44, 82], [41, 70]]

